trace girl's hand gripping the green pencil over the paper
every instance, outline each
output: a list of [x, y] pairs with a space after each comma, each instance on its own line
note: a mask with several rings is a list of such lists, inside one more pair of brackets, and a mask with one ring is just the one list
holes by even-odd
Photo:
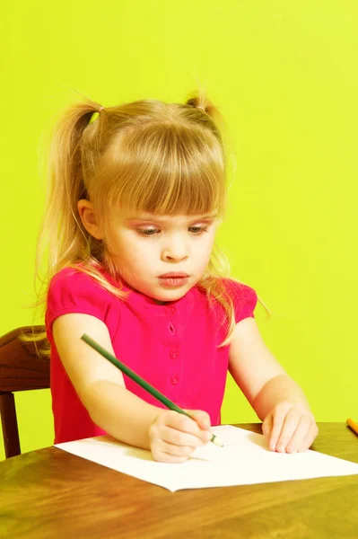
[[153, 459], [162, 463], [183, 463], [197, 446], [205, 446], [213, 433], [209, 414], [201, 410], [186, 410], [193, 418], [178, 411], [161, 411], [149, 428]]

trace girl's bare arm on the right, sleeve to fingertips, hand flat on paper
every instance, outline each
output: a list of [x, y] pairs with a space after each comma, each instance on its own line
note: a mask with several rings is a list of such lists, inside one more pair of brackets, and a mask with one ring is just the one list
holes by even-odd
[[229, 370], [236, 384], [263, 420], [270, 448], [292, 452], [308, 448], [318, 430], [310, 406], [296, 384], [267, 349], [253, 318], [236, 324]]

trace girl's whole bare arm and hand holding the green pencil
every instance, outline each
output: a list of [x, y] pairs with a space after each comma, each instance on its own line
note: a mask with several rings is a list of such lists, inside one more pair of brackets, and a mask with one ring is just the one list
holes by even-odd
[[92, 420], [131, 446], [151, 449], [156, 460], [184, 462], [196, 446], [211, 438], [207, 414], [193, 419], [152, 406], [127, 391], [121, 371], [89, 347], [83, 333], [114, 354], [105, 323], [89, 314], [64, 314], [53, 323], [58, 354]]

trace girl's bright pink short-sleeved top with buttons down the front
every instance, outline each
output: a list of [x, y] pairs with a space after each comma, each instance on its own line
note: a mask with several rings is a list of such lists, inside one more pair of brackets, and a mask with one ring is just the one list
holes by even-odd
[[[113, 281], [104, 273], [109, 279]], [[235, 306], [236, 323], [254, 316], [258, 297], [253, 288], [224, 279]], [[210, 306], [197, 287], [177, 301], [158, 305], [130, 290], [119, 299], [82, 271], [65, 268], [48, 289], [46, 328], [51, 344], [51, 394], [55, 443], [106, 434], [93, 423], [65, 373], [53, 340], [52, 324], [68, 313], [92, 314], [104, 322], [120, 361], [142, 376], [180, 408], [205, 410], [212, 425], [220, 424], [230, 346], [217, 348], [226, 336], [222, 305]], [[106, 359], [103, 359], [104, 361]], [[124, 375], [128, 391], [165, 408]]]

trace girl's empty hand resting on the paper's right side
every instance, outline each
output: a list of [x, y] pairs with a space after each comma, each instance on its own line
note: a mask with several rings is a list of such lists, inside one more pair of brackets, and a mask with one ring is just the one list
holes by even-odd
[[266, 415], [262, 432], [271, 451], [303, 453], [319, 433], [310, 410], [301, 403], [279, 402]]

